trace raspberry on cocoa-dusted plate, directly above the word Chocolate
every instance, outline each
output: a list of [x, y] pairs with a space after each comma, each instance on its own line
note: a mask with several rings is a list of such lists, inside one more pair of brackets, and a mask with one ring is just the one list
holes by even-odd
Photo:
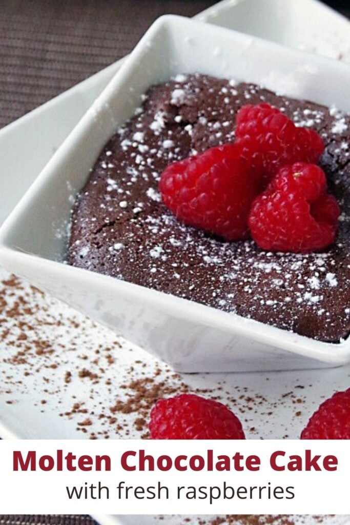
[[235, 414], [222, 403], [195, 394], [157, 401], [149, 428], [151, 439], [245, 439]]

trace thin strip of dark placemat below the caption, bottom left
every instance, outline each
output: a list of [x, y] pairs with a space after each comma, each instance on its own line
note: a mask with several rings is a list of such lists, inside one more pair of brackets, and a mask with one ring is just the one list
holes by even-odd
[[97, 525], [97, 523], [87, 515], [0, 514], [0, 525]]

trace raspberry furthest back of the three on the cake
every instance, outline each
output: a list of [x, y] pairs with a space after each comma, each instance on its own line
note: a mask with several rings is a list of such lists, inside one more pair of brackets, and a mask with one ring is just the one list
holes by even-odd
[[317, 164], [324, 150], [320, 135], [297, 128], [293, 121], [269, 104], [243, 106], [236, 120], [236, 144], [241, 156], [271, 180], [280, 167], [295, 162]]

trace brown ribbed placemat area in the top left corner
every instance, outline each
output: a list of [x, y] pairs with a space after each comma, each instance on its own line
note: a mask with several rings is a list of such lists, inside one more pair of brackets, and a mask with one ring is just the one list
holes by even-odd
[[0, 128], [128, 54], [166, 13], [214, 0], [1, 0]]

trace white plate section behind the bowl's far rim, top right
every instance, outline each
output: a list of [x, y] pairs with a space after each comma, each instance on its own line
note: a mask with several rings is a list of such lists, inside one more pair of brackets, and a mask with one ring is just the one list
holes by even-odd
[[196, 18], [350, 62], [350, 22], [319, 0], [222, 0]]

